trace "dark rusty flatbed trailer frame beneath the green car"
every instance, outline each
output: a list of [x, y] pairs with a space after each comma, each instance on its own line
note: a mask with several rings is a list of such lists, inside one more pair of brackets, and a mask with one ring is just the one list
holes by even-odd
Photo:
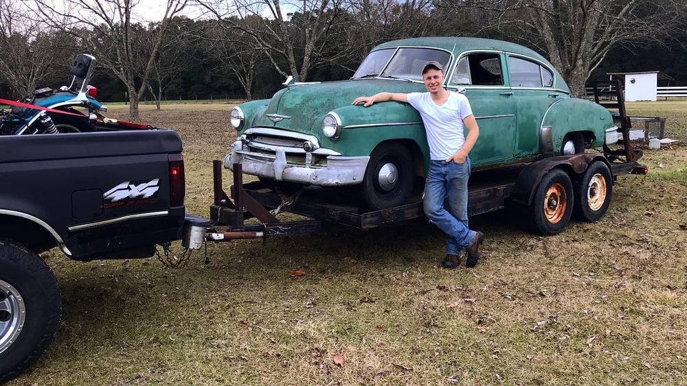
[[[602, 154], [551, 157], [528, 164], [475, 171], [469, 181], [468, 215], [472, 217], [500, 210], [508, 201], [532, 205], [534, 191], [549, 171], [562, 168], [573, 176], [581, 175], [592, 162], [607, 164], [613, 181], [618, 176], [647, 172], [646, 167], [638, 162], [611, 163]], [[340, 188], [308, 186], [292, 195], [285, 195], [260, 181], [244, 183], [240, 164], [234, 164], [229, 197], [223, 188], [222, 169], [223, 162], [214, 160], [214, 202], [210, 206], [210, 221], [199, 221], [199, 228], [195, 231], [204, 232], [204, 241], [317, 234], [332, 226], [368, 230], [425, 216], [421, 184], [416, 184], [416, 191], [407, 204], [367, 210], [357, 195], [353, 192], [347, 194], [349, 192]], [[305, 219], [282, 221], [275, 212], [293, 213]], [[257, 221], [246, 221], [253, 217]]]

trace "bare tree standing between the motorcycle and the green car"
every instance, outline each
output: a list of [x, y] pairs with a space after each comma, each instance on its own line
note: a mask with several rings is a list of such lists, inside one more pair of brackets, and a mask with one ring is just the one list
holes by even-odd
[[[100, 64], [112, 71], [126, 86], [129, 117], [139, 117], [139, 100], [148, 89], [150, 73], [164, 39], [169, 21], [179, 15], [188, 0], [167, 0], [161, 21], [146, 29], [134, 23], [136, 0], [35, 0], [36, 12], [45, 21], [64, 20], [65, 32], [82, 40]], [[142, 4], [143, 6], [146, 6]], [[144, 34], [148, 32], [148, 34]], [[145, 35], [145, 36], [144, 36]], [[144, 45], [144, 42], [150, 45]]]

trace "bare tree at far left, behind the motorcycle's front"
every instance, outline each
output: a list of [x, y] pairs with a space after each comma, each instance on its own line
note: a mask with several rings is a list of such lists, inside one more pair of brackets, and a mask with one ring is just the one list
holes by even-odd
[[74, 55], [69, 36], [27, 13], [16, 2], [0, 0], [0, 77], [15, 99], [32, 93], [40, 82], [56, 80]]

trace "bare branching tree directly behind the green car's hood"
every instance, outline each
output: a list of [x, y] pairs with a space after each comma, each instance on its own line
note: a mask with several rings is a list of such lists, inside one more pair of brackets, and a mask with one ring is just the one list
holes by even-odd
[[[240, 29], [284, 77], [300, 81], [344, 13], [342, 0], [198, 0], [226, 27]], [[249, 18], [251, 16], [251, 18]], [[244, 23], [246, 20], [251, 23]], [[253, 21], [257, 21], [254, 23]]]

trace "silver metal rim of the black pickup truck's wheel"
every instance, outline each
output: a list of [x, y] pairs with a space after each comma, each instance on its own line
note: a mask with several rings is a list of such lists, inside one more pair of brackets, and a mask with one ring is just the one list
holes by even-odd
[[26, 306], [10, 283], [0, 280], [0, 353], [12, 346], [24, 327]]

